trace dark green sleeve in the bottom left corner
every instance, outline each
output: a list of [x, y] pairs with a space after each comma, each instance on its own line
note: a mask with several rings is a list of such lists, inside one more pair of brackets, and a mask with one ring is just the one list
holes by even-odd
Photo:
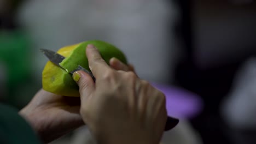
[[0, 143], [40, 143], [28, 123], [13, 107], [0, 104]]

